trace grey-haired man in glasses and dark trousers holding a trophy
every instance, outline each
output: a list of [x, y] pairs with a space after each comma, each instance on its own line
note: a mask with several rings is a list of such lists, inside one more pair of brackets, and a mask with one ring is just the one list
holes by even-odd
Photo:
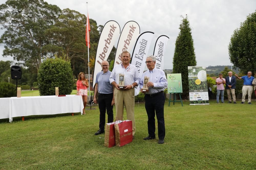
[[164, 125], [164, 88], [167, 88], [167, 80], [163, 70], [155, 68], [156, 58], [149, 56], [146, 58], [148, 70], [141, 77], [140, 89], [145, 93], [145, 108], [147, 111], [148, 136], [144, 140], [155, 139], [155, 114], [158, 123], [158, 143], [164, 143], [165, 125]]

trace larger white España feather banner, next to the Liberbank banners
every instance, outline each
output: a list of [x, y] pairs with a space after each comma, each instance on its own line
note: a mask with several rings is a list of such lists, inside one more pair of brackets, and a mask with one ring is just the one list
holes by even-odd
[[[153, 35], [154, 33], [149, 31], [142, 33], [138, 37], [132, 53], [131, 64], [136, 66], [140, 74], [140, 77], [142, 76], [144, 71], [145, 61], [148, 56], [148, 50], [149, 50]], [[140, 93], [140, 86], [138, 85], [134, 91], [135, 91], [134, 92], [135, 96], [138, 95]]]

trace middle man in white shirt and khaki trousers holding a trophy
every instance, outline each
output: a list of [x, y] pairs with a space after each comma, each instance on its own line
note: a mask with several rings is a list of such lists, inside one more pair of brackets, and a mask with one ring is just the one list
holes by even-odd
[[121, 64], [116, 65], [109, 77], [109, 82], [115, 87], [115, 109], [116, 119], [122, 120], [124, 105], [127, 119], [132, 121], [132, 136], [135, 134], [134, 120], [134, 87], [140, 83], [139, 72], [135, 66], [130, 64], [131, 55], [124, 51]]

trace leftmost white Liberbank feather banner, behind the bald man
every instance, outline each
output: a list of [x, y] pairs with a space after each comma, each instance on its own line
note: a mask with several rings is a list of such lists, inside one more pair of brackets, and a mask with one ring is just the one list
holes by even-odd
[[94, 65], [94, 74], [93, 74], [93, 84], [95, 85], [95, 79], [98, 72], [102, 70], [101, 62], [103, 60], [107, 60], [109, 54], [114, 47], [116, 40], [120, 35], [120, 26], [115, 21], [108, 21], [105, 23], [101, 34], [100, 39], [97, 47], [97, 53], [95, 58], [95, 65]]

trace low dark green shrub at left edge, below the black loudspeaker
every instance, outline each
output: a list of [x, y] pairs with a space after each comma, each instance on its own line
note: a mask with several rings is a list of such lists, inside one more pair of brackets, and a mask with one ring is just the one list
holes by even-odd
[[7, 82], [0, 82], [0, 98], [15, 97], [16, 88], [13, 84]]

